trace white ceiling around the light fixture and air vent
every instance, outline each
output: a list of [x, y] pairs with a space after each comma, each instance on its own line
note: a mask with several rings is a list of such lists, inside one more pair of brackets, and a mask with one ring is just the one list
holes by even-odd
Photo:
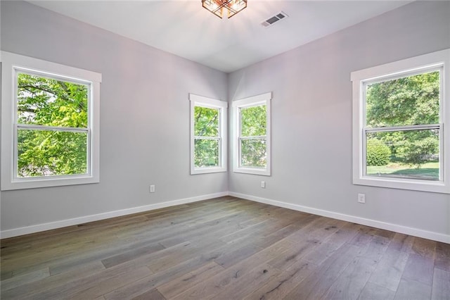
[[[229, 73], [411, 1], [248, 0], [230, 19], [200, 0], [29, 2]], [[289, 17], [261, 25], [280, 11]]]

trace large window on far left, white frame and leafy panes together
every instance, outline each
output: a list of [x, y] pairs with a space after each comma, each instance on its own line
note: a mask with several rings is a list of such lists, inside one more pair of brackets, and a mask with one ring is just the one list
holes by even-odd
[[98, 182], [101, 74], [1, 56], [1, 189]]

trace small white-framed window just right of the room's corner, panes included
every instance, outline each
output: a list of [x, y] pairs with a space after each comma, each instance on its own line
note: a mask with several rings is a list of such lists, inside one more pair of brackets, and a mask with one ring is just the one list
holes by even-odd
[[234, 172], [271, 175], [271, 93], [233, 101]]

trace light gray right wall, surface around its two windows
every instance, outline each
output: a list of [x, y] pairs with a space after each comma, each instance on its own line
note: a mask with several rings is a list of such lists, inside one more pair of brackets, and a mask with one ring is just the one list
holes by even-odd
[[448, 237], [449, 194], [352, 185], [350, 73], [449, 48], [449, 16], [449, 1], [409, 4], [231, 73], [231, 100], [274, 94], [273, 168], [230, 173], [229, 190]]

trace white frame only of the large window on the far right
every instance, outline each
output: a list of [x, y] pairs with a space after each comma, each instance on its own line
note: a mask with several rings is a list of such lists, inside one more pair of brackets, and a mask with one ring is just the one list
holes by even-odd
[[[366, 175], [366, 99], [365, 85], [382, 79], [425, 73], [440, 68], [441, 94], [439, 99], [439, 180], [420, 180]], [[353, 183], [374, 187], [410, 189], [450, 194], [450, 49], [413, 58], [378, 65], [351, 73], [353, 85]], [[428, 129], [425, 126], [404, 126], [405, 130]], [[401, 128], [401, 127], [399, 127]]]

